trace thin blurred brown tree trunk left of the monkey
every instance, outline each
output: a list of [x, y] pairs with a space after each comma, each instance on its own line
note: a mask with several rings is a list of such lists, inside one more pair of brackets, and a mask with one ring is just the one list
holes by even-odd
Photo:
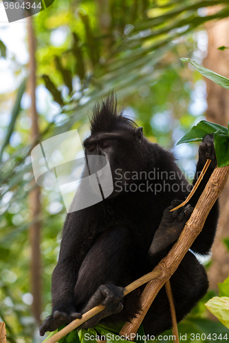
[[[30, 96], [31, 108], [30, 117], [32, 119], [31, 138], [32, 141], [39, 135], [38, 115], [36, 112], [36, 38], [32, 25], [32, 16], [28, 19], [28, 43], [30, 51]], [[30, 245], [31, 245], [31, 283], [32, 296], [32, 312], [38, 325], [41, 324], [41, 222], [37, 220], [37, 216], [41, 212], [41, 202], [39, 200], [40, 189], [35, 187], [30, 192], [30, 209], [32, 210], [33, 224], [30, 226]]]

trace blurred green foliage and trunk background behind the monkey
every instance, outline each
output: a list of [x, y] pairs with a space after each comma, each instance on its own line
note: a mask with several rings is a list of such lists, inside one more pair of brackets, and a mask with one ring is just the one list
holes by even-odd
[[[0, 1], [0, 317], [10, 342], [43, 340], [38, 326], [50, 314], [66, 215], [58, 190], [34, 184], [32, 147], [74, 128], [86, 138], [94, 102], [114, 90], [118, 109], [143, 126], [150, 141], [172, 150], [191, 179], [198, 145], [175, 143], [201, 119], [226, 126], [229, 99], [227, 90], [179, 58], [229, 77], [228, 49], [218, 49], [229, 46], [228, 5], [55, 0], [40, 14], [9, 24]], [[188, 342], [224, 342], [226, 333], [229, 340], [228, 329], [204, 306], [228, 276], [228, 190], [221, 196], [212, 259], [202, 259], [210, 292], [179, 324]]]

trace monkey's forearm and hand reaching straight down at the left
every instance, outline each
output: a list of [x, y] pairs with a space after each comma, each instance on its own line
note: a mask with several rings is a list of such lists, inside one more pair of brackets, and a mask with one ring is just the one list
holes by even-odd
[[85, 239], [85, 231], [80, 225], [78, 213], [69, 213], [63, 230], [58, 263], [52, 274], [52, 315], [41, 325], [41, 335], [46, 331], [55, 331], [65, 322], [81, 318], [82, 315], [76, 312], [74, 306], [74, 288], [78, 270], [93, 239], [94, 235]]

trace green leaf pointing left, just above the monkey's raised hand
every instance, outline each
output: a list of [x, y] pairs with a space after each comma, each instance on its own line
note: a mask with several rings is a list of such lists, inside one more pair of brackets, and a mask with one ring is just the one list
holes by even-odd
[[221, 132], [228, 135], [228, 129], [224, 126], [211, 123], [210, 121], [201, 120], [199, 121], [199, 123], [197, 123], [197, 125], [193, 126], [193, 128], [191, 128], [190, 131], [188, 131], [188, 133], [186, 133], [184, 137], [182, 137], [182, 139], [177, 142], [177, 145], [181, 143], [202, 141], [206, 134], [212, 134], [214, 132], [217, 132], [218, 130], [221, 130]]

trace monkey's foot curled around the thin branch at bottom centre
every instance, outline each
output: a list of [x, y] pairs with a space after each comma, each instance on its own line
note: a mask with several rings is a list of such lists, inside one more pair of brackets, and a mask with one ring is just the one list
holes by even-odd
[[88, 329], [89, 327], [94, 327], [102, 318], [111, 316], [111, 314], [118, 314], [123, 309], [122, 299], [123, 299], [123, 287], [118, 287], [111, 284], [100, 285], [97, 291], [89, 299], [87, 305], [81, 311], [82, 314], [89, 311], [97, 305], [103, 305], [106, 308], [99, 314], [96, 314], [93, 318], [87, 320], [84, 324], [80, 325], [78, 329]]

